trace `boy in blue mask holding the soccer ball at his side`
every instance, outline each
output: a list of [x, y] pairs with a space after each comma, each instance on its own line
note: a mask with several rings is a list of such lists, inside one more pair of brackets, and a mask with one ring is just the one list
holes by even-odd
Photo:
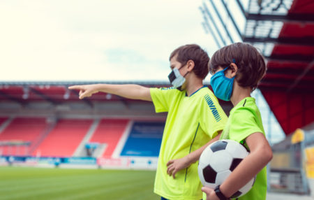
[[264, 73], [264, 58], [252, 45], [234, 43], [216, 51], [211, 59], [211, 86], [219, 99], [232, 101], [234, 108], [220, 138], [244, 143], [250, 150], [225, 182], [215, 190], [203, 187], [209, 200], [230, 199], [241, 187], [257, 175], [252, 189], [238, 199], [266, 199], [266, 165], [272, 158], [271, 147], [264, 136], [260, 110], [251, 92]]

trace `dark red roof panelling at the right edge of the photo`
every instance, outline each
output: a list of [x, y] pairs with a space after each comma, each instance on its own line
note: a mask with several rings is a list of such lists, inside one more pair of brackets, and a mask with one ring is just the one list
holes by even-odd
[[294, 0], [260, 90], [285, 134], [314, 122], [314, 1]]

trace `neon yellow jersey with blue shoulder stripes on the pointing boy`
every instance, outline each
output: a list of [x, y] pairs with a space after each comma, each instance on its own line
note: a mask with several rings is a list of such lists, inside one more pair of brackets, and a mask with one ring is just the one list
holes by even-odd
[[202, 199], [202, 183], [197, 162], [178, 171], [175, 179], [167, 174], [167, 162], [185, 157], [214, 138], [225, 127], [227, 116], [208, 87], [186, 96], [173, 87], [151, 88], [156, 113], [167, 112], [160, 146], [154, 192], [166, 199]]

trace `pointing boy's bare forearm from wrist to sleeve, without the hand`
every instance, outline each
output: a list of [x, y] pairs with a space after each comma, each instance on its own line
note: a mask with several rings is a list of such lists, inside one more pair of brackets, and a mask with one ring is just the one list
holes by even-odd
[[152, 101], [148, 87], [141, 85], [111, 85], [111, 84], [96, 84], [94, 85], [97, 92], [105, 92], [116, 94], [128, 99], [141, 99], [145, 101]]

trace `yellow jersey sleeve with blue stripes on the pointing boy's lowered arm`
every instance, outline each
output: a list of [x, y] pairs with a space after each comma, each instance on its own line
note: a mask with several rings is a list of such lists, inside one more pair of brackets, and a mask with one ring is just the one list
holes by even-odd
[[214, 95], [205, 94], [200, 103], [200, 127], [214, 138], [225, 127], [227, 115]]

